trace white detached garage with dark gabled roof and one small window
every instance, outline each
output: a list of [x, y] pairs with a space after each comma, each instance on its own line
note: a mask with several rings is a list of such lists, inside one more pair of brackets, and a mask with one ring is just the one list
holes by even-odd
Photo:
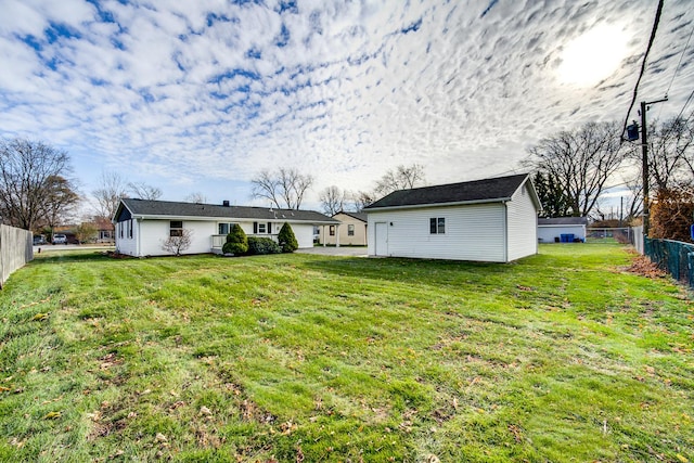
[[364, 208], [370, 256], [509, 262], [537, 254], [527, 175], [399, 190]]

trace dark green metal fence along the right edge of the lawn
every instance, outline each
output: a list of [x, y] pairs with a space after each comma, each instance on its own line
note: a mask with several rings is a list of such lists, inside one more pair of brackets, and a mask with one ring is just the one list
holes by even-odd
[[694, 287], [694, 244], [674, 240], [645, 239], [645, 255], [674, 280]]

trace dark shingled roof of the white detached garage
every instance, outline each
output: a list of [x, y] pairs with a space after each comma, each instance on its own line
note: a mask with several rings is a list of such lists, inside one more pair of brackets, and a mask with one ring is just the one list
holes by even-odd
[[398, 190], [367, 206], [364, 209], [509, 201], [518, 188], [528, 180], [529, 176], [522, 173], [470, 182]]

